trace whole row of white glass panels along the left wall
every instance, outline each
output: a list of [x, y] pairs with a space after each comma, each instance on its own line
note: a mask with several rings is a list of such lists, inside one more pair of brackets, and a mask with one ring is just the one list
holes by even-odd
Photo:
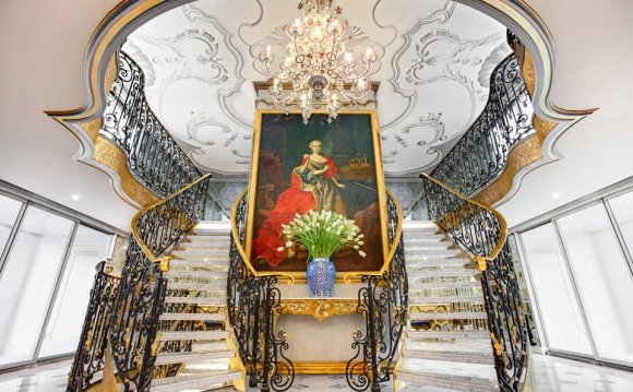
[[76, 351], [95, 266], [116, 237], [0, 193], [0, 369]]

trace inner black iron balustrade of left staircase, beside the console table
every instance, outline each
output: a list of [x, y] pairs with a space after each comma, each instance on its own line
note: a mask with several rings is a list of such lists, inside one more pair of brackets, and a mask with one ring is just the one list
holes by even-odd
[[287, 391], [295, 381], [295, 366], [284, 331], [275, 332], [276, 316], [282, 312], [282, 295], [274, 275], [256, 276], [244, 262], [248, 198], [238, 198], [232, 212], [230, 266], [227, 277], [228, 320], [240, 359], [248, 373], [249, 387], [261, 391]]

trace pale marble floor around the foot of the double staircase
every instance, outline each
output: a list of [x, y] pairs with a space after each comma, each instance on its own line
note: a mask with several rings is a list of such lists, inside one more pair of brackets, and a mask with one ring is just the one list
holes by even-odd
[[[539, 392], [632, 392], [633, 372], [535, 355]], [[0, 372], [0, 392], [62, 392], [70, 361]], [[349, 391], [342, 376], [297, 376], [292, 391]], [[255, 390], [253, 390], [255, 391]], [[383, 388], [391, 392], [391, 388]]]

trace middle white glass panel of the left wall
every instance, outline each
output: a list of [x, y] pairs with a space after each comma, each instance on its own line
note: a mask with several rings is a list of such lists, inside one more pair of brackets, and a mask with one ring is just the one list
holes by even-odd
[[27, 207], [0, 275], [0, 367], [33, 359], [73, 227]]

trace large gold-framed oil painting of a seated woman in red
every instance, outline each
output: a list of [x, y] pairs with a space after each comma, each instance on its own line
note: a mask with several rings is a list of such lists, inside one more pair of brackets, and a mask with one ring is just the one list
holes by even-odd
[[246, 252], [256, 271], [304, 276], [308, 252], [284, 247], [283, 224], [310, 210], [354, 219], [366, 257], [342, 249], [338, 276], [379, 271], [389, 253], [384, 174], [375, 111], [300, 114], [262, 110], [255, 117]]

